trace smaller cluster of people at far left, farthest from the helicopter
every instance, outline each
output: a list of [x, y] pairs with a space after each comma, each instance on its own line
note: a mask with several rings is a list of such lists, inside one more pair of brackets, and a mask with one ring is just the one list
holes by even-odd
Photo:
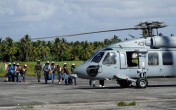
[[21, 77], [23, 82], [25, 82], [26, 79], [26, 71], [27, 71], [27, 65], [24, 64], [23, 66], [20, 66], [19, 63], [9, 63], [6, 67], [6, 73], [7, 73], [7, 81], [12, 82], [21, 82]]

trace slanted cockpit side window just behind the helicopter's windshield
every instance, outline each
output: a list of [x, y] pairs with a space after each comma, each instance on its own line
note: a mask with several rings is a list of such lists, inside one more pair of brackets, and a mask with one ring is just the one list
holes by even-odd
[[108, 52], [103, 60], [103, 64], [116, 64], [115, 52]]

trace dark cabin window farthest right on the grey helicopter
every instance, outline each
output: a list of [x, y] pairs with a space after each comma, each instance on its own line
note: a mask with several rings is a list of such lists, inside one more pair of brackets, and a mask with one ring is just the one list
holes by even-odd
[[163, 65], [173, 65], [173, 56], [172, 53], [163, 52]]

